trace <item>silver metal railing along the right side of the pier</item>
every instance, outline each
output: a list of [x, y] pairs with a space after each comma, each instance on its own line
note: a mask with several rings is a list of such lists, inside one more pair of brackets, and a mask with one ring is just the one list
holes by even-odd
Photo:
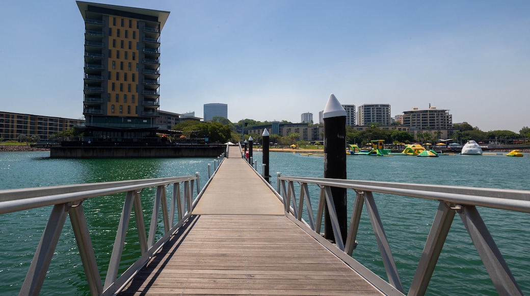
[[[295, 194], [295, 183], [299, 184], [298, 201]], [[308, 184], [313, 184], [320, 188], [316, 219], [313, 214]], [[281, 192], [281, 196], [284, 199], [286, 215], [291, 215], [294, 219], [302, 221], [316, 233], [320, 234], [324, 209], [327, 208], [329, 210], [329, 217], [336, 246], [349, 256], [352, 255], [355, 248], [361, 212], [363, 211], [364, 204], [366, 204], [366, 210], [377, 240], [379, 252], [381, 253], [383, 265], [388, 277], [388, 283], [402, 293], [404, 293], [404, 288], [398, 274], [398, 268], [396, 268], [390, 245], [386, 238], [381, 217], [379, 216], [375, 204], [374, 193], [409, 196], [439, 201], [438, 210], [432, 222], [432, 227], [428, 234], [425, 247], [423, 248], [421, 258], [419, 259], [418, 267], [412, 279], [408, 295], [425, 294], [438, 261], [438, 257], [441, 253], [441, 248], [446, 241], [447, 234], [451, 228], [456, 213], [460, 215], [465, 229], [469, 233], [469, 236], [471, 237], [471, 240], [499, 294], [523, 294], [488, 228], [482, 220], [477, 207], [489, 207], [499, 210], [530, 213], [530, 191], [288, 177], [281, 176], [280, 173], [278, 173], [277, 186], [278, 193]], [[342, 240], [339, 229], [337, 211], [335, 211], [333, 203], [332, 187], [352, 189], [355, 191], [355, 202], [351, 213], [346, 241]], [[303, 214], [307, 216], [308, 221], [302, 219]]]

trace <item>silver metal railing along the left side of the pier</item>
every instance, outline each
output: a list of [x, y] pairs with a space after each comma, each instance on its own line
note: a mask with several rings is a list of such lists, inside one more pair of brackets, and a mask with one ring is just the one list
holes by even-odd
[[[219, 166], [223, 159], [224, 154], [217, 158]], [[208, 183], [211, 178], [213, 176], [210, 177]], [[197, 188], [195, 199], [192, 198], [194, 183]], [[169, 197], [171, 201], [168, 209], [166, 187], [170, 185], [173, 185], [173, 190], [171, 197]], [[145, 231], [144, 206], [140, 199], [140, 193], [147, 188], [156, 188], [148, 233]], [[91, 294], [111, 295], [116, 293], [151, 259], [153, 254], [162, 248], [172, 234], [188, 219], [202, 195], [200, 190], [198, 173], [195, 176], [0, 190], [0, 214], [53, 206], [46, 228], [42, 233], [39, 245], [22, 284], [20, 295], [39, 294], [67, 215], [72, 222], [74, 237]], [[123, 203], [108, 270], [106, 273], [101, 273], [96, 263], [83, 202], [90, 198], [112, 194], [125, 194], [125, 202]], [[117, 277], [123, 247], [125, 246], [126, 233], [129, 228], [129, 218], [133, 208], [136, 225], [130, 228], [136, 228], [138, 231], [138, 243], [142, 255], [133, 265]], [[157, 229], [161, 210], [163, 230]], [[176, 223], [174, 222], [175, 217], [177, 218]], [[163, 235], [155, 242], [157, 231], [162, 231]], [[101, 282], [102, 274], [106, 274], [104, 283]]]

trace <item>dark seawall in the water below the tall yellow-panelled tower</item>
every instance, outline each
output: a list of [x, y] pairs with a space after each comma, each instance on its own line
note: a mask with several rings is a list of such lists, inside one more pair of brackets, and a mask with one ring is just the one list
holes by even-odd
[[50, 147], [50, 158], [180, 158], [217, 157], [225, 145], [161, 147]]

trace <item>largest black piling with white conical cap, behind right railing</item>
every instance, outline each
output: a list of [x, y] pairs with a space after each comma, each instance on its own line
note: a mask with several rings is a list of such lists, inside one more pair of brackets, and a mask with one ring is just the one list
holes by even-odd
[[[346, 110], [334, 94], [330, 94], [323, 112], [324, 119], [324, 178], [346, 179]], [[339, 220], [342, 241], [348, 235], [346, 188], [331, 187], [333, 203]], [[334, 241], [331, 219], [326, 209], [324, 238]]]

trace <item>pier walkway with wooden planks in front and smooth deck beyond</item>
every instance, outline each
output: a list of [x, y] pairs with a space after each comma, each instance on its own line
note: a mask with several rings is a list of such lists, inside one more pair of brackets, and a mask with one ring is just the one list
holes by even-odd
[[288, 219], [239, 147], [230, 147], [190, 219], [121, 294], [382, 292]]

